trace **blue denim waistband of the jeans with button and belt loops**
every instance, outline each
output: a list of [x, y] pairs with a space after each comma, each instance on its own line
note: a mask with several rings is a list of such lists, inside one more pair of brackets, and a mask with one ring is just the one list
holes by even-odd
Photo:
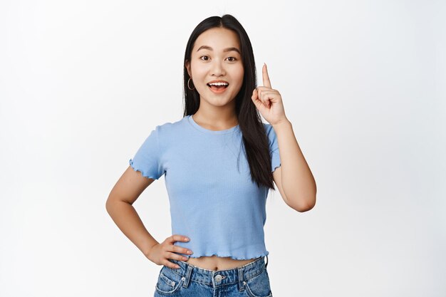
[[179, 269], [171, 269], [168, 266], [165, 267], [185, 278], [185, 283], [183, 283], [183, 286], [188, 286], [190, 281], [197, 281], [212, 287], [224, 286], [230, 283], [238, 282], [242, 287], [244, 285], [244, 281], [257, 276], [259, 273], [264, 271], [264, 269], [266, 269], [266, 266], [268, 265], [268, 256], [266, 255], [266, 261], [264, 257], [265, 256], [261, 256], [248, 264], [234, 269], [217, 271], [203, 269], [185, 261], [175, 259], [169, 259], [169, 261], [180, 266]]

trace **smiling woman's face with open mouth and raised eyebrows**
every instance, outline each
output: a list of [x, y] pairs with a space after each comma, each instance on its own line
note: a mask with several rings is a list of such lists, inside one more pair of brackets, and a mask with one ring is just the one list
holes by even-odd
[[[187, 72], [200, 100], [222, 106], [231, 102], [243, 84], [244, 68], [237, 33], [227, 28], [211, 28], [198, 36], [192, 48]], [[212, 80], [224, 80], [226, 88], [209, 87]], [[213, 90], [214, 89], [214, 90]]]

